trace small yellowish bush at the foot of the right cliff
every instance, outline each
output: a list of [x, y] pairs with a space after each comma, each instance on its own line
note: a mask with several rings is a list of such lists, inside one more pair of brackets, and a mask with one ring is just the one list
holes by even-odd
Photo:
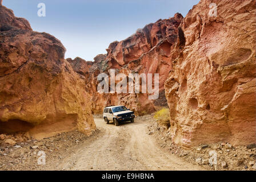
[[168, 108], [157, 111], [154, 118], [157, 120], [158, 125], [165, 126], [167, 129], [170, 127], [170, 110]]

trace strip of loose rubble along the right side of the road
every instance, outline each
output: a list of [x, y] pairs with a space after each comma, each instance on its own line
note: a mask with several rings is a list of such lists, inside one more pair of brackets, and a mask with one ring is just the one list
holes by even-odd
[[[207, 170], [256, 170], [256, 144], [248, 146], [232, 146], [230, 143], [219, 142], [211, 144], [200, 144], [187, 149], [177, 146], [171, 140], [170, 129], [158, 126], [153, 114], [142, 117], [148, 122], [148, 134], [157, 138], [159, 146], [169, 150], [172, 154], [198, 164]], [[209, 155], [209, 152], [211, 155]], [[217, 155], [217, 165], [210, 164], [213, 155]]]

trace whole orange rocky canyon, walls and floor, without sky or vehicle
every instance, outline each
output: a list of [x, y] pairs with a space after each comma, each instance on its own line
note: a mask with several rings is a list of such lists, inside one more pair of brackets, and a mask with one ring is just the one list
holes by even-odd
[[[256, 3], [214, 3], [217, 14], [201, 0], [185, 17], [147, 24], [86, 61], [65, 59], [61, 40], [33, 31], [1, 1], [0, 169], [214, 169], [214, 150], [215, 169], [253, 170]], [[99, 93], [98, 76], [111, 70], [128, 80], [158, 74], [157, 99]], [[106, 125], [108, 105], [133, 110], [135, 122]], [[46, 166], [35, 162], [39, 150], [48, 152]]]

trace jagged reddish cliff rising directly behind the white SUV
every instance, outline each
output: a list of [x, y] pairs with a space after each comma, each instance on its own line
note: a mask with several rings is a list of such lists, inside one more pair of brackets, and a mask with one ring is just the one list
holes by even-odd
[[[94, 113], [101, 113], [107, 105], [125, 105], [139, 115], [167, 106], [164, 82], [171, 70], [170, 52], [177, 40], [178, 26], [182, 19], [181, 14], [175, 14], [170, 19], [159, 19], [138, 29], [129, 38], [111, 43], [107, 55], [94, 58], [86, 79], [86, 90], [92, 96]], [[159, 98], [149, 100], [149, 93], [98, 93], [97, 76], [99, 73], [110, 75], [110, 69], [116, 69], [116, 74], [124, 73], [127, 76], [129, 73], [152, 73], [153, 76], [159, 73]]]

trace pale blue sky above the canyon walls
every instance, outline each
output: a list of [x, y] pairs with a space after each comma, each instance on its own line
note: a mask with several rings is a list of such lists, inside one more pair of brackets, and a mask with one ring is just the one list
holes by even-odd
[[[46, 17], [37, 16], [38, 3], [45, 3]], [[34, 31], [61, 40], [65, 57], [93, 60], [115, 40], [123, 40], [138, 28], [158, 19], [183, 16], [199, 0], [3, 0], [15, 16], [29, 20]]]

